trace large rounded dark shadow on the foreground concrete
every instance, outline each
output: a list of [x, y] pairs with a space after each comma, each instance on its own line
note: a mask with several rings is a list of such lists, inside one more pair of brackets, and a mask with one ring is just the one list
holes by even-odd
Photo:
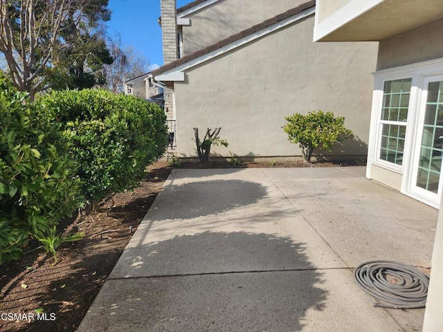
[[325, 307], [322, 274], [289, 238], [203, 232], [125, 253], [143, 277], [123, 283], [128, 271], [114, 269], [84, 322], [94, 331], [301, 331], [307, 310]]

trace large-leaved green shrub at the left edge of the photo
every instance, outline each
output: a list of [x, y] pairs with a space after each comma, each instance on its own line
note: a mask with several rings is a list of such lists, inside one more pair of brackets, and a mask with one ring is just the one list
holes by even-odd
[[0, 75], [0, 264], [78, 206], [76, 164], [57, 124]]

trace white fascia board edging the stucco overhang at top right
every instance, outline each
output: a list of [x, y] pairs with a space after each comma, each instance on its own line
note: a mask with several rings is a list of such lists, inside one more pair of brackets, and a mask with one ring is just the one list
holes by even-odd
[[341, 26], [345, 26], [384, 1], [386, 0], [351, 0], [336, 10], [334, 14], [314, 26], [314, 42], [318, 42], [323, 37], [329, 35], [329, 33], [341, 28]]

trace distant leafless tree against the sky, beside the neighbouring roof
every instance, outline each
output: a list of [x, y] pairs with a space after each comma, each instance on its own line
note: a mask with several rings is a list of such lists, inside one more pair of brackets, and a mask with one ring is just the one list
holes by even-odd
[[114, 93], [123, 92], [125, 79], [138, 77], [149, 71], [149, 61], [137, 55], [132, 47], [121, 48], [120, 38], [109, 42], [114, 62], [105, 66], [107, 89]]

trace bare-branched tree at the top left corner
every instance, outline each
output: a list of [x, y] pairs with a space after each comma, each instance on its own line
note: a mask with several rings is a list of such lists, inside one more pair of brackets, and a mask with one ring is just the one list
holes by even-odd
[[[57, 66], [57, 50], [73, 47], [66, 42], [71, 27], [88, 22], [91, 8], [107, 12], [107, 1], [97, 0], [0, 0], [0, 52], [5, 55], [12, 83], [33, 98], [46, 89], [45, 71]], [[86, 13], [86, 9], [89, 10]]]

